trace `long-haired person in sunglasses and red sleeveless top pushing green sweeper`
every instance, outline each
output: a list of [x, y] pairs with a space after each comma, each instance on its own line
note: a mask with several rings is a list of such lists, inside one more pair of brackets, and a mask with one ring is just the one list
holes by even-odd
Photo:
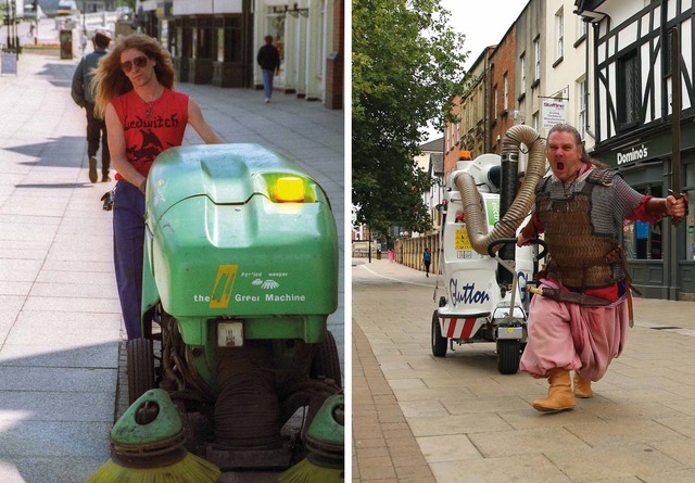
[[113, 204], [114, 265], [128, 340], [141, 336], [144, 192], [154, 158], [181, 145], [187, 125], [206, 143], [222, 140], [200, 106], [174, 90], [169, 53], [143, 34], [119, 36], [99, 63], [96, 113], [104, 116], [116, 168]]

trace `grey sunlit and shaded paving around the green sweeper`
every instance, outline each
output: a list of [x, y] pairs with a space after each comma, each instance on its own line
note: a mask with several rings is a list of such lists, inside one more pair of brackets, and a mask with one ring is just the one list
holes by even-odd
[[[113, 183], [88, 181], [85, 115], [70, 97], [77, 62], [23, 54], [17, 76], [0, 76], [2, 483], [85, 482], [110, 456], [123, 328], [112, 217], [99, 199]], [[342, 232], [343, 111], [281, 93], [264, 104], [253, 90], [178, 88], [225, 141], [298, 160], [328, 192]], [[342, 274], [329, 318], [341, 355]]]

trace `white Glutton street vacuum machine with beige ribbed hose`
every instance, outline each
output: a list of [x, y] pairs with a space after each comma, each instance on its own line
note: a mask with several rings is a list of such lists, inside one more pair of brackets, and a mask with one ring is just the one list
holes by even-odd
[[[528, 152], [528, 163], [517, 191], [520, 150]], [[518, 371], [527, 339], [526, 289], [544, 253], [517, 247], [516, 236], [544, 173], [545, 142], [521, 125], [505, 134], [501, 156], [459, 161], [448, 175], [440, 243], [444, 294], [431, 328], [434, 356], [445, 356], [454, 344], [494, 342], [500, 372]]]

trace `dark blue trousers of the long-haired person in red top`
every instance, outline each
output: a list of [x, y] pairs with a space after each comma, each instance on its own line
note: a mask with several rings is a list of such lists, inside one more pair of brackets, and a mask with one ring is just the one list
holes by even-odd
[[128, 181], [116, 183], [113, 204], [113, 260], [121, 312], [128, 340], [142, 335], [142, 256], [144, 249], [144, 194]]

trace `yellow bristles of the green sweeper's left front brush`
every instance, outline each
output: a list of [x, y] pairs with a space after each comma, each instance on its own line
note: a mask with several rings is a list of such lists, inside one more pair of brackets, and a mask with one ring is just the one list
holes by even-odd
[[89, 483], [214, 483], [220, 474], [215, 465], [189, 453], [179, 462], [163, 468], [125, 468], [109, 459]]

